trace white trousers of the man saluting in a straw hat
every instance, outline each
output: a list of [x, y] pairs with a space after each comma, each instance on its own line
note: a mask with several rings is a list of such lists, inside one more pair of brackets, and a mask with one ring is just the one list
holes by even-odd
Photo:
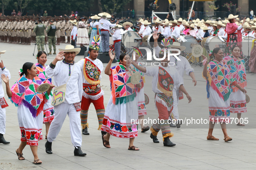
[[58, 133], [62, 129], [64, 120], [68, 114], [69, 116], [69, 127], [71, 142], [73, 146], [82, 145], [82, 135], [81, 135], [81, 118], [80, 111], [75, 110], [74, 104], [62, 103], [54, 107], [55, 116], [50, 125], [49, 133], [47, 139], [52, 142], [56, 139]]

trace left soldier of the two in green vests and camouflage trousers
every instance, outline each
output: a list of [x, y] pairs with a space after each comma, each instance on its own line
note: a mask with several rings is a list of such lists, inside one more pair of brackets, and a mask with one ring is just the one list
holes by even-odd
[[36, 33], [36, 45], [37, 45], [37, 50], [40, 51], [40, 47], [42, 51], [45, 50], [44, 45], [45, 45], [45, 25], [42, 23], [39, 23], [36, 25], [34, 28], [34, 31]]

